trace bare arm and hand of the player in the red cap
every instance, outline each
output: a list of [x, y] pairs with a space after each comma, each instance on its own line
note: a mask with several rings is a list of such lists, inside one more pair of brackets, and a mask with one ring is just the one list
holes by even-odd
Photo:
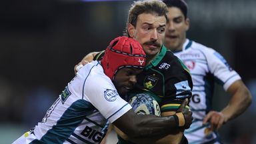
[[[182, 113], [183, 119], [181, 119], [180, 116], [176, 117], [179, 114], [167, 117], [136, 115], [131, 109], [125, 113], [125, 115], [114, 121], [113, 124], [115, 127], [123, 131], [123, 134], [125, 133], [129, 137], [130, 141], [134, 141], [136, 143], [144, 141], [141, 138], [155, 137], [159, 139], [159, 136], [163, 137], [171, 133], [171, 129], [177, 129], [179, 127], [183, 127], [185, 129], [189, 128], [193, 117], [192, 112], [185, 109], [185, 105], [187, 105], [187, 99], [186, 101], [183, 101], [180, 106], [180, 113]], [[117, 133], [119, 132], [120, 131], [117, 131]]]

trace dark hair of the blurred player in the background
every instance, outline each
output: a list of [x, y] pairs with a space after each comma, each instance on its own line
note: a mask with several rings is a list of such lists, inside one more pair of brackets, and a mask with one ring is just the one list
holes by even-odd
[[187, 19], [187, 3], [184, 0], [163, 0], [163, 3], [165, 3], [167, 7], [179, 8], [185, 19]]

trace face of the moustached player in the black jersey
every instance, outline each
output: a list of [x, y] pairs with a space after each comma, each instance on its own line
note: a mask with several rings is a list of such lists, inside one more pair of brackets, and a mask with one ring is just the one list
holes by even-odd
[[159, 53], [165, 37], [167, 19], [151, 13], [141, 13], [137, 17], [136, 26], [128, 24], [128, 33], [141, 43], [147, 55], [147, 61]]

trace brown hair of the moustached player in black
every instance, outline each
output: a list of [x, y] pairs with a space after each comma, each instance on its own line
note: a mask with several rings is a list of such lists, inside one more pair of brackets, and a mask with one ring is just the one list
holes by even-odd
[[136, 27], [137, 17], [142, 13], [150, 13], [157, 16], [165, 16], [167, 19], [168, 7], [163, 3], [163, 1], [159, 0], [140, 0], [134, 1], [133, 5], [129, 9], [128, 19], [126, 29], [124, 31], [124, 35], [130, 37], [128, 33], [128, 25], [131, 23], [134, 27]]

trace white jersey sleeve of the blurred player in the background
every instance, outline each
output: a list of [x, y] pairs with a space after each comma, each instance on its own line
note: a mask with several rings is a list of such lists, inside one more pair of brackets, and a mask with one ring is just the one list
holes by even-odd
[[207, 63], [209, 64], [209, 70], [214, 75], [215, 79], [223, 85], [225, 91], [227, 91], [229, 86], [241, 79], [241, 77], [229, 66], [221, 54], [211, 48], [207, 50], [209, 51], [205, 53], [205, 56], [207, 58]]

